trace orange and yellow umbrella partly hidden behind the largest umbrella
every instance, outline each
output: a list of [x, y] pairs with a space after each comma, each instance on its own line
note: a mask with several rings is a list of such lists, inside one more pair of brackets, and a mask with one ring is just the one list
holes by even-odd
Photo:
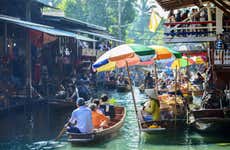
[[180, 52], [174, 51], [164, 46], [152, 45], [149, 47], [153, 48], [156, 51], [156, 57], [154, 58], [155, 60], [169, 59], [173, 56], [176, 58], [182, 57]]

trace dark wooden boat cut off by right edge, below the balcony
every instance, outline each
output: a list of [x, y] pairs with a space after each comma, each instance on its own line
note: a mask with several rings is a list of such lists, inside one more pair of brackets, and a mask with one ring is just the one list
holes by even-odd
[[230, 109], [203, 109], [191, 111], [189, 124], [198, 131], [219, 132], [228, 131], [230, 124]]

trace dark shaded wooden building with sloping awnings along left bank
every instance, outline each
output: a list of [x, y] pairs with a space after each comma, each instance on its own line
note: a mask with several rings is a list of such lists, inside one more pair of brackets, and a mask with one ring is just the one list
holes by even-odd
[[[65, 62], [70, 64], [68, 66], [76, 65], [76, 60], [84, 53], [96, 57], [98, 37], [116, 41], [107, 35], [104, 27], [66, 17], [43, 15], [44, 7], [51, 6], [39, 0], [0, 1], [0, 79], [12, 80], [15, 77], [12, 74], [16, 73], [20, 78], [14, 78], [16, 79], [14, 81], [18, 82], [20, 89], [26, 88], [29, 97], [36, 93], [33, 86], [37, 82], [34, 81], [37, 78], [34, 73], [37, 62], [42, 61], [42, 65], [45, 66], [43, 68], [47, 68], [50, 74], [55, 75], [58, 73], [51, 70], [54, 64], [58, 64], [58, 58], [61, 58], [63, 63], [66, 60]], [[79, 48], [83, 42], [92, 45], [85, 52]], [[70, 55], [70, 61], [64, 55], [67, 57]], [[21, 62], [15, 64], [16, 60]], [[63, 63], [60, 65], [65, 66]], [[72, 67], [68, 68], [71, 70]], [[42, 66], [37, 72], [41, 72], [41, 69]], [[61, 73], [62, 71], [60, 70]], [[18, 93], [16, 90], [11, 95]]]

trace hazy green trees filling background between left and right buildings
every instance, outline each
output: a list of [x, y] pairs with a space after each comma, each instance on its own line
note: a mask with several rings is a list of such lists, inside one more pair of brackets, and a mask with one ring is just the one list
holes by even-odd
[[[92, 24], [104, 26], [115, 37], [118, 29], [119, 0], [47, 0], [72, 17]], [[127, 43], [164, 44], [163, 24], [156, 33], [148, 29], [150, 12], [155, 0], [120, 0], [122, 40]]]

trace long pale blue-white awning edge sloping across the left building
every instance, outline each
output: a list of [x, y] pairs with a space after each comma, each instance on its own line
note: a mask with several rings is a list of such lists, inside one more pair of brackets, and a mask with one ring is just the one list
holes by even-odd
[[23, 21], [23, 20], [20, 20], [18, 18], [14, 18], [14, 17], [10, 17], [10, 16], [0, 15], [0, 21], [13, 23], [13, 24], [25, 27], [25, 28], [41, 31], [41, 32], [48, 33], [48, 34], [55, 35], [55, 36], [73, 37], [73, 38], [76, 38], [79, 40], [90, 41], [90, 42], [96, 41], [94, 39], [91, 39], [91, 38], [88, 38], [88, 37], [85, 37], [85, 36], [82, 36], [82, 35], [79, 35], [79, 34], [76, 34], [73, 32], [68, 32], [65, 30], [56, 29], [56, 28], [51, 27], [51, 26], [37, 24], [37, 23], [29, 22], [29, 21]]

